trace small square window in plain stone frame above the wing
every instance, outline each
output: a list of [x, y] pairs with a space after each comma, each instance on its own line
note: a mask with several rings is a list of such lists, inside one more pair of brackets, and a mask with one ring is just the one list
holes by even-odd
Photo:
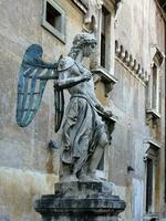
[[64, 11], [54, 0], [43, 0], [42, 27], [65, 43]]

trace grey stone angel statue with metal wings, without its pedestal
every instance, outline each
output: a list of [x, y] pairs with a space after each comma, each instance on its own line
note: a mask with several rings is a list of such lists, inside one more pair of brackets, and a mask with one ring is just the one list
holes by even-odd
[[42, 61], [42, 48], [32, 44], [20, 69], [17, 122], [21, 127], [32, 122], [49, 80], [54, 80], [55, 131], [63, 119], [63, 90], [71, 95], [62, 126], [62, 181], [96, 180], [95, 171], [108, 144], [105, 122], [112, 113], [96, 98], [92, 73], [82, 64], [95, 46], [94, 34], [82, 32], [74, 38], [69, 55], [51, 64]]

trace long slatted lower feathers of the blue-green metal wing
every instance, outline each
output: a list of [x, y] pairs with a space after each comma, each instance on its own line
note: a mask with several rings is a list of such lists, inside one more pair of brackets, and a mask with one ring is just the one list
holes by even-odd
[[28, 69], [24, 72], [20, 71], [17, 123], [21, 127], [27, 127], [34, 118], [46, 84], [46, 80], [41, 80], [39, 76], [46, 72], [46, 69]]

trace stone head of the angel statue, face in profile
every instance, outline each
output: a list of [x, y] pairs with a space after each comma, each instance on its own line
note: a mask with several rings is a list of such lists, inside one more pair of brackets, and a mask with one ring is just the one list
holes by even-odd
[[80, 51], [82, 51], [83, 56], [90, 56], [94, 52], [95, 46], [96, 39], [94, 34], [82, 32], [74, 38], [70, 55], [75, 59]]

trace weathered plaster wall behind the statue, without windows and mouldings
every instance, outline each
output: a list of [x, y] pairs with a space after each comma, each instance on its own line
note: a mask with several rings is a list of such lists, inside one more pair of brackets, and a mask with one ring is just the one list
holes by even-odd
[[[70, 0], [58, 3], [66, 15], [66, 44], [40, 25], [41, 0], [0, 2], [0, 221], [40, 220], [33, 201], [52, 193], [59, 175], [59, 149], [49, 150], [49, 141], [60, 143], [61, 130], [53, 128], [53, 84], [49, 82], [37, 116], [27, 128], [15, 123], [18, 70], [24, 50], [39, 43], [45, 61], [66, 55], [73, 36], [81, 32], [83, 12]], [[164, 51], [164, 21], [155, 1], [125, 0], [115, 25], [115, 39], [149, 74], [152, 44]], [[145, 140], [152, 137], [146, 125], [146, 84], [115, 57], [117, 83], [108, 97], [98, 83], [96, 94], [102, 104], [117, 116], [108, 152], [108, 180], [115, 183], [114, 193], [127, 203], [120, 220], [141, 221], [145, 203]], [[164, 136], [165, 136], [165, 70], [162, 70], [162, 120], [158, 139], [160, 165], [156, 208], [164, 212]], [[68, 93], [65, 98], [69, 98]], [[132, 167], [134, 171], [127, 168]]]

